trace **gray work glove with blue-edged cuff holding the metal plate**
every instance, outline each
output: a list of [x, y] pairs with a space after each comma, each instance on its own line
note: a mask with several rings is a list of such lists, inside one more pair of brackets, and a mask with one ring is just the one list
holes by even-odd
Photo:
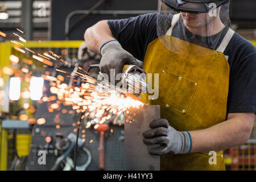
[[191, 151], [191, 138], [186, 131], [176, 131], [166, 119], [155, 119], [150, 123], [151, 130], [143, 133], [145, 144], [160, 144], [151, 148], [151, 155], [186, 154]]

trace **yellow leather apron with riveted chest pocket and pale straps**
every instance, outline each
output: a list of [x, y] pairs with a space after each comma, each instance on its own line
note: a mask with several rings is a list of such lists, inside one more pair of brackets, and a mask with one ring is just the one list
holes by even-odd
[[[152, 75], [159, 74], [159, 97], [148, 100], [148, 94], [141, 94], [141, 99], [147, 104], [160, 105], [161, 118], [167, 119], [177, 131], [206, 129], [224, 122], [229, 64], [223, 52], [233, 34], [229, 29], [212, 55], [207, 55], [212, 50], [191, 44], [189, 55], [182, 56], [167, 49], [159, 38], [155, 39], [148, 45], [143, 69]], [[188, 45], [173, 36], [163, 36], [181, 47]], [[210, 157], [208, 153], [167, 154], [161, 156], [160, 166], [161, 170], [225, 170], [223, 151], [217, 152], [217, 164], [210, 164]]]

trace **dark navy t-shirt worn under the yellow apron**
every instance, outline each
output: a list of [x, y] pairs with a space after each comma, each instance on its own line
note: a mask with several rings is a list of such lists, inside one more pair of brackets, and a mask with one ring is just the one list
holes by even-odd
[[[135, 58], [144, 60], [147, 46], [158, 38], [156, 13], [108, 20], [113, 36]], [[221, 39], [220, 39], [221, 40]], [[224, 51], [230, 67], [228, 113], [256, 112], [256, 49], [235, 33]]]

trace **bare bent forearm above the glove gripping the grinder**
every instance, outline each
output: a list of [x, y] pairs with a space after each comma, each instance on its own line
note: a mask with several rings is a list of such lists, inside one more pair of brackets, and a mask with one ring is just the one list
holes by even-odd
[[102, 44], [115, 38], [109, 28], [108, 20], [102, 20], [85, 31], [84, 39], [91, 51], [100, 53]]

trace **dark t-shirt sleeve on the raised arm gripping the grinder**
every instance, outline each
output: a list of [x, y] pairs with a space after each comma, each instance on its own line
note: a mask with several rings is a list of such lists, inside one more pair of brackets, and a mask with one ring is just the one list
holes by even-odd
[[147, 45], [156, 38], [156, 13], [108, 20], [108, 24], [121, 46], [143, 61]]

